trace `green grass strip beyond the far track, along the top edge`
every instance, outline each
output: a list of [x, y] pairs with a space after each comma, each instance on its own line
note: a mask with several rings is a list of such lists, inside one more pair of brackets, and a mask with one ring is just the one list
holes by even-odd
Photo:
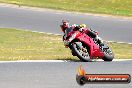
[[0, 2], [77, 12], [132, 16], [132, 0], [0, 0]]

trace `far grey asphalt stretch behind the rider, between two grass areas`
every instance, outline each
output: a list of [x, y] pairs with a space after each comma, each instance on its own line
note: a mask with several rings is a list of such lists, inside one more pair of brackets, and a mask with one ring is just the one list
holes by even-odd
[[69, 19], [71, 24], [85, 23], [104, 40], [132, 43], [132, 19], [0, 5], [0, 27], [62, 34], [62, 19]]

